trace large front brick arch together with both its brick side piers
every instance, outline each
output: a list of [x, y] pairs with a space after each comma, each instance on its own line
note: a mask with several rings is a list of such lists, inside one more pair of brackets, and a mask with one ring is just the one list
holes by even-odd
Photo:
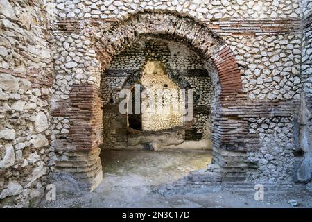
[[[214, 76], [211, 76], [216, 86], [212, 104], [214, 110], [211, 110], [213, 162], [224, 169], [223, 178], [225, 180], [229, 177], [233, 178], [233, 175], [235, 175], [234, 180], [236, 178], [242, 180], [245, 176], [245, 168], [239, 164], [236, 158], [227, 158], [227, 156], [231, 156], [231, 152], [235, 151], [242, 159], [240, 161], [243, 161], [244, 154], [239, 152], [245, 152], [244, 148], [241, 148], [241, 138], [245, 135], [240, 132], [233, 133], [229, 127], [231, 124], [237, 123], [237, 126], [243, 128], [244, 120], [239, 117], [239, 114], [228, 114], [226, 110], [227, 107], [233, 105], [233, 101], [236, 99], [239, 99], [240, 104], [243, 104], [245, 100], [245, 96], [241, 92], [241, 76], [234, 54], [229, 46], [204, 24], [200, 24], [200, 22], [189, 17], [161, 12], [138, 13], [123, 22], [119, 22], [109, 31], [105, 31], [101, 37], [95, 37], [92, 47], [97, 55], [96, 63], [101, 65], [101, 70], [94, 71], [98, 75], [95, 76], [96, 84], [81, 82], [74, 85], [69, 101], [65, 105], [58, 106], [58, 108], [63, 108], [63, 112], [67, 113], [71, 121], [70, 134], [67, 135], [66, 140], [60, 140], [59, 144], [64, 148], [70, 146], [68, 155], [72, 155], [73, 159], [78, 157], [78, 160], [83, 162], [83, 167], [77, 165], [79, 161], [73, 161], [71, 158], [61, 164], [57, 162], [56, 166], [61, 171], [74, 172], [75, 175], [82, 178], [83, 175], [87, 175], [85, 179], [93, 188], [101, 181], [101, 163], [96, 157], [98, 146], [103, 141], [100, 76], [118, 51], [144, 35], [187, 44], [205, 60], [206, 66], [215, 70]], [[114, 103], [116, 92], [111, 93], [113, 99], [110, 100], [110, 103]], [[88, 101], [85, 101], [86, 97]]]

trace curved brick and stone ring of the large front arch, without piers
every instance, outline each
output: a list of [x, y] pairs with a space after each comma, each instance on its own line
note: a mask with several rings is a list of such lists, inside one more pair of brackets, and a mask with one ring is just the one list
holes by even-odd
[[214, 65], [223, 96], [242, 92], [241, 74], [229, 46], [202, 22], [175, 13], [139, 12], [105, 31], [94, 44], [102, 69], [107, 67], [116, 51], [141, 35], [158, 35], [185, 42]]

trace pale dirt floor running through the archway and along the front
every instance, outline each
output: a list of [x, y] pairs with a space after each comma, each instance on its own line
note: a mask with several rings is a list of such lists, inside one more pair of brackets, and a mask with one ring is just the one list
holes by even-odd
[[[308, 191], [279, 191], [254, 200], [254, 191], [197, 190], [162, 196], [155, 189], [205, 169], [210, 151], [103, 151], [103, 181], [93, 192], [58, 194], [39, 207], [312, 207]], [[297, 205], [288, 203], [296, 200]]]

